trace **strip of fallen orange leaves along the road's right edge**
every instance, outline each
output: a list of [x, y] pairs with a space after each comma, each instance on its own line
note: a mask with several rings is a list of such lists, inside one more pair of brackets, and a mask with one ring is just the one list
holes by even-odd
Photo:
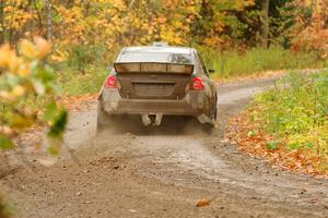
[[303, 173], [323, 174], [323, 158], [306, 149], [286, 149], [285, 141], [261, 130], [261, 122], [251, 121], [251, 111], [245, 111], [229, 122], [225, 137], [251, 157], [265, 158], [274, 167]]

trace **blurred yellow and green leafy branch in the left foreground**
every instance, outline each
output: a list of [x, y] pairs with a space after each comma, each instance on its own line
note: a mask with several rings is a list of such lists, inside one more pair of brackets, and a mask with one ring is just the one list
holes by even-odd
[[0, 148], [13, 148], [14, 136], [40, 124], [49, 129], [49, 153], [58, 155], [67, 111], [54, 100], [60, 87], [45, 60], [51, 44], [35, 37], [22, 40], [17, 50], [0, 47]]

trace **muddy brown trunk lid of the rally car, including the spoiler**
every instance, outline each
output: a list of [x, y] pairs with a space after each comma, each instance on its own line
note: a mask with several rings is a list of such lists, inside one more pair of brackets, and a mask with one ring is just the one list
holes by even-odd
[[119, 93], [129, 99], [181, 99], [194, 72], [192, 64], [115, 63]]

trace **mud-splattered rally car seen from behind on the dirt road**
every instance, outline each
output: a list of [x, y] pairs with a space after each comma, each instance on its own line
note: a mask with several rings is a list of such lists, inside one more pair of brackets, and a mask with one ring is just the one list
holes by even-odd
[[124, 48], [98, 97], [98, 128], [109, 116], [139, 114], [144, 125], [164, 116], [189, 116], [201, 123], [216, 119], [216, 88], [194, 48]]

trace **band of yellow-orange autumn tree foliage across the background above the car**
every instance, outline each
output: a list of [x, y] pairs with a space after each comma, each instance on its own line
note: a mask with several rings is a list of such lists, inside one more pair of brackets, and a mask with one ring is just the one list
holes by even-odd
[[54, 61], [65, 61], [77, 47], [97, 47], [109, 60], [117, 49], [164, 40], [203, 45], [216, 50], [259, 46], [261, 26], [268, 40], [293, 50], [327, 50], [327, 1], [266, 0], [5, 0], [0, 4], [0, 43], [40, 35], [55, 45]]

